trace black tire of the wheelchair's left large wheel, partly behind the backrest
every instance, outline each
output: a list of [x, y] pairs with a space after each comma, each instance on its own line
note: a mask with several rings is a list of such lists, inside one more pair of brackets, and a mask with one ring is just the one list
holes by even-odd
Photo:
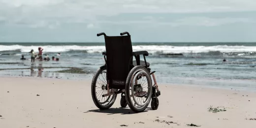
[[[103, 95], [103, 92], [105, 92], [104, 94], [107, 93], [107, 90], [105, 91], [105, 90], [102, 89], [102, 93], [101, 93], [101, 94], [99, 94], [99, 95], [96, 94], [96, 93], [97, 93], [97, 92], [96, 92], [96, 83], [98, 83], [98, 82], [97, 82], [98, 77], [99, 77], [99, 75], [102, 74], [102, 73], [106, 73], [106, 66], [103, 66], [103, 67], [99, 68], [99, 69], [96, 71], [96, 73], [95, 73], [95, 75], [94, 75], [94, 77], [93, 77], [93, 80], [92, 80], [91, 93], [92, 93], [92, 98], [93, 98], [93, 101], [94, 101], [95, 105], [96, 105], [99, 109], [104, 110], [104, 109], [110, 108], [110, 107], [114, 104], [114, 102], [115, 102], [115, 100], [116, 100], [116, 98], [117, 98], [117, 95], [115, 94], [115, 95], [111, 95], [111, 96], [105, 96], [105, 98], [107, 98], [105, 102], [108, 102], [106, 105], [103, 105], [104, 102], [101, 102], [101, 103], [100, 103], [100, 101], [98, 101], [97, 96], [102, 96], [102, 95]], [[100, 78], [99, 78], [99, 79], [100, 79]], [[102, 79], [104, 79], [104, 81], [101, 80], [102, 85], [107, 85], [106, 78], [103, 78], [103, 77], [102, 77]], [[98, 83], [98, 84], [99, 84], [99, 83]]]

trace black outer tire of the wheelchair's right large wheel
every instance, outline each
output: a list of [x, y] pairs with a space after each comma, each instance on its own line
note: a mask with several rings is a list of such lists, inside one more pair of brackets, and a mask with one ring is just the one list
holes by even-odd
[[[134, 102], [136, 102], [136, 101], [133, 100], [133, 99], [135, 99], [134, 96], [133, 96], [133, 99], [132, 99], [132, 97], [130, 97], [130, 85], [131, 85], [131, 80], [133, 80], [132, 79], [133, 75], [136, 76], [136, 74], [138, 74], [139, 71], [144, 72], [144, 75], [146, 76], [146, 79], [147, 79], [147, 82], [148, 82], [148, 87], [149, 87], [150, 90], [147, 93], [148, 97], [147, 97], [146, 101], [144, 102], [144, 105], [142, 105], [141, 107], [138, 108], [138, 107], [136, 107], [135, 103], [134, 103], [134, 105], [132, 103], [132, 101], [134, 101]], [[131, 91], [131, 93], [132, 93], [132, 91]], [[138, 65], [138, 66], [133, 67], [130, 70], [130, 72], [128, 74], [128, 77], [126, 79], [125, 96], [126, 96], [128, 106], [130, 107], [130, 109], [132, 111], [134, 111], [136, 113], [142, 112], [148, 107], [148, 105], [150, 103], [150, 100], [151, 100], [151, 96], [152, 96], [152, 80], [151, 80], [151, 77], [150, 77], [150, 74], [149, 74], [148, 70], [144, 66]]]

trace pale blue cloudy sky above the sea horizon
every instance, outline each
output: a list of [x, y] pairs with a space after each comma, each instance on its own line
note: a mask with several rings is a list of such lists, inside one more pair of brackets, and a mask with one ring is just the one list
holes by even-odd
[[256, 0], [0, 0], [0, 42], [256, 42]]

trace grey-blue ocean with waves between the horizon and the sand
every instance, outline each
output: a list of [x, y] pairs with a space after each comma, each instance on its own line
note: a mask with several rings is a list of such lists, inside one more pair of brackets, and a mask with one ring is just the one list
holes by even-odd
[[[43, 57], [61, 53], [60, 61], [31, 63], [29, 52], [38, 53], [38, 47], [44, 49]], [[146, 59], [159, 83], [256, 91], [256, 43], [143, 42], [132, 47], [150, 53]], [[0, 75], [92, 80], [104, 64], [104, 51], [104, 42], [0, 43]], [[27, 60], [20, 60], [21, 55]], [[71, 67], [84, 73], [62, 71]]]

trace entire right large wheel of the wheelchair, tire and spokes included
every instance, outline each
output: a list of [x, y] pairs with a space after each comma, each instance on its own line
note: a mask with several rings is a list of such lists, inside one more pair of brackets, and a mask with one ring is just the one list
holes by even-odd
[[132, 111], [142, 112], [148, 107], [152, 96], [152, 80], [145, 67], [139, 65], [130, 70], [125, 93]]

